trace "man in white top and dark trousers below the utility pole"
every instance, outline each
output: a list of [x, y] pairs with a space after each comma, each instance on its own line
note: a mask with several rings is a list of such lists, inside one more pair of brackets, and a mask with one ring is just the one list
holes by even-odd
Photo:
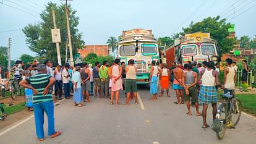
[[[48, 74], [48, 73], [47, 73]], [[56, 69], [54, 70], [54, 78], [56, 80], [55, 82], [55, 96], [57, 98], [58, 94], [59, 94], [59, 100], [62, 100], [62, 72], [61, 72], [61, 66], [57, 66]]]

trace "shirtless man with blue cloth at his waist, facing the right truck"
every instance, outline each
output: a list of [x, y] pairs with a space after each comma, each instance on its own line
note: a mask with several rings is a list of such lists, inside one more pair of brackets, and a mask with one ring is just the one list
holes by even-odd
[[[173, 81], [173, 90], [176, 92], [177, 101], [175, 104], [184, 104], [183, 100], [183, 87], [182, 87], [182, 74], [183, 70], [181, 69], [181, 62], [176, 62], [176, 68], [173, 70], [174, 81]], [[180, 98], [181, 97], [181, 100]]]

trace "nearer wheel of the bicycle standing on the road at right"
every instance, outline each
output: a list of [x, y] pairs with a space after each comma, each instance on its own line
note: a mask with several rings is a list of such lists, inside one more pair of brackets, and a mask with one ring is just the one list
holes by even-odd
[[[222, 103], [223, 104], [223, 103]], [[226, 108], [226, 104], [223, 104], [223, 106], [219, 106], [220, 108], [220, 111], [222, 111], [220, 113], [220, 118], [219, 118], [219, 121], [220, 121], [220, 125], [221, 125], [221, 130], [220, 132], [216, 132], [216, 135], [217, 135], [217, 138], [219, 140], [221, 140], [224, 135], [225, 135], [225, 132], [226, 132], [226, 117], [228, 116], [228, 111], [227, 111], [227, 108]], [[219, 110], [219, 109], [218, 109]]]

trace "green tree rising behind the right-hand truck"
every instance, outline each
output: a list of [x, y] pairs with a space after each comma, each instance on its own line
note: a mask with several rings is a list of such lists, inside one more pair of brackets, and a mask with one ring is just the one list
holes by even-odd
[[236, 38], [227, 38], [229, 35], [228, 28], [230, 28], [230, 23], [226, 23], [226, 19], [221, 19], [220, 16], [217, 17], [207, 17], [201, 22], [191, 22], [189, 27], [182, 28], [184, 33], [210, 33], [211, 38], [216, 40], [218, 46], [220, 46], [219, 53], [220, 56], [224, 53], [229, 53], [233, 49], [233, 45], [237, 43]]

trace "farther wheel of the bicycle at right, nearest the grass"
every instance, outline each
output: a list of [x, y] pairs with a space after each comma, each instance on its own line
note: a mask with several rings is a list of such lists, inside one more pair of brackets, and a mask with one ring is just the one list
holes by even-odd
[[238, 98], [234, 99], [234, 105], [231, 109], [231, 119], [234, 123], [234, 126], [236, 126], [240, 120], [242, 114], [242, 103]]

